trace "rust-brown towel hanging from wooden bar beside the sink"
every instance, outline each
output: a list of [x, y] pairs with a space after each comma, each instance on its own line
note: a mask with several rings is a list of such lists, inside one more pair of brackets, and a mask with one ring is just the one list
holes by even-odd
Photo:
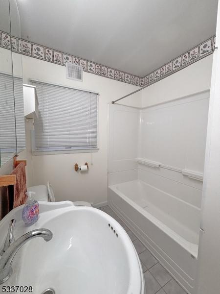
[[14, 204], [13, 208], [22, 205], [26, 201], [26, 173], [25, 163], [21, 162], [11, 174], [16, 174], [16, 184], [14, 185]]

